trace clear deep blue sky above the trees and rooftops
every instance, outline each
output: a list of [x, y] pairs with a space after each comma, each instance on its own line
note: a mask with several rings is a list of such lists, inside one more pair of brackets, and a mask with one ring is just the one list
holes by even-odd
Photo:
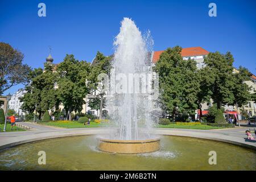
[[[38, 3], [46, 17], [38, 16]], [[217, 5], [217, 17], [208, 5]], [[91, 61], [97, 51], [113, 53], [113, 39], [124, 16], [133, 18], [142, 32], [150, 30], [154, 50], [179, 45], [208, 51], [231, 51], [234, 66], [256, 74], [256, 1], [0, 1], [0, 42], [25, 55], [24, 63], [43, 67], [52, 47], [53, 63], [67, 53]], [[6, 93], [13, 93], [23, 85]]]

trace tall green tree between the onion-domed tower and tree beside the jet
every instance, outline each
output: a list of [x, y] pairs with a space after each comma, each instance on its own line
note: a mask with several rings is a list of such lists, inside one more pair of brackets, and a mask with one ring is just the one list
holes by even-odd
[[71, 121], [72, 111], [80, 112], [84, 98], [90, 92], [86, 80], [90, 73], [89, 63], [76, 60], [74, 55], [66, 55], [57, 67], [57, 93]]

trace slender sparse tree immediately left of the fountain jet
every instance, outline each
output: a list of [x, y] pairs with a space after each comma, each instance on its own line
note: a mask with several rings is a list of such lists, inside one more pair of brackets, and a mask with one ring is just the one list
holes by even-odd
[[104, 99], [105, 93], [101, 92], [101, 85], [98, 81], [98, 75], [100, 75], [101, 73], [106, 73], [107, 75], [110, 74], [110, 69], [112, 68], [112, 65], [110, 63], [111, 59], [112, 57], [104, 56], [101, 52], [98, 51], [94, 60], [96, 64], [92, 66], [88, 81], [90, 88], [92, 88], [92, 90], [98, 90], [99, 92], [94, 98], [90, 99], [89, 107], [91, 107], [92, 109], [96, 109], [97, 111], [100, 110], [100, 119], [102, 119], [102, 109], [106, 105], [106, 100]]

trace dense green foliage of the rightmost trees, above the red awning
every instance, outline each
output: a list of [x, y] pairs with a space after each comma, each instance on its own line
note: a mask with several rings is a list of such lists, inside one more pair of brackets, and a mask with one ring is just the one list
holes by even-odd
[[211, 97], [218, 109], [224, 105], [242, 106], [249, 100], [249, 88], [244, 82], [249, 78], [249, 72], [240, 67], [238, 73], [233, 73], [234, 59], [230, 52], [225, 55], [210, 52], [204, 62], [213, 76], [210, 83]]

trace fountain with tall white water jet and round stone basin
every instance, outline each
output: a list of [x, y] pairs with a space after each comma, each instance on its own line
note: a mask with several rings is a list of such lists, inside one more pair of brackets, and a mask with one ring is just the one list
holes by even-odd
[[156, 110], [153, 88], [157, 87], [156, 81], [152, 84], [156, 74], [148, 56], [152, 39], [149, 34], [143, 37], [133, 20], [124, 18], [114, 46], [107, 101], [117, 129], [99, 138], [98, 148], [124, 154], [159, 150], [160, 139], [150, 135], [151, 112]]

